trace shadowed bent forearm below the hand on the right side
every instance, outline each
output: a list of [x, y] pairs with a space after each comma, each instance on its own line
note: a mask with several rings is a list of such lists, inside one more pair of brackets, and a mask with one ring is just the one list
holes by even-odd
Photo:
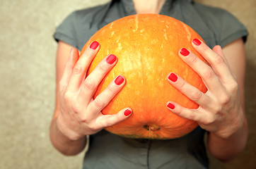
[[220, 161], [230, 161], [245, 148], [248, 139], [248, 123], [244, 120], [243, 125], [230, 137], [221, 138], [209, 133], [207, 146], [209, 152]]

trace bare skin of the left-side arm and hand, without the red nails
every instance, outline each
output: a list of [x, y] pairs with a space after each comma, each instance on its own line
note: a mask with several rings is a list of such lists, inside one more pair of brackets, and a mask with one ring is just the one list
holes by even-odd
[[[70, 54], [66, 52], [71, 49]], [[122, 89], [125, 84], [113, 80], [107, 89], [93, 100], [98, 84], [117, 60], [110, 64], [107, 57], [86, 77], [96, 49], [88, 48], [79, 58], [78, 50], [64, 42], [58, 43], [57, 51], [57, 90], [56, 108], [50, 127], [52, 144], [62, 154], [76, 155], [86, 146], [86, 135], [95, 134], [104, 127], [115, 125], [129, 117], [130, 108], [124, 108], [115, 115], [103, 115], [100, 111]], [[67, 57], [66, 63], [62, 57]], [[85, 79], [86, 77], [86, 79]]]

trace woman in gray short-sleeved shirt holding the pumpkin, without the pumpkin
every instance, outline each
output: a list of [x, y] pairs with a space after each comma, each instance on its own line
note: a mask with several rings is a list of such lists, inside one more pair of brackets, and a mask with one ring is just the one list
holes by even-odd
[[[199, 108], [192, 110], [173, 101], [166, 103], [166, 108], [173, 113], [199, 124], [185, 137], [125, 139], [102, 130], [132, 114], [131, 108], [124, 108], [116, 115], [100, 113], [122, 89], [125, 77], [116, 77], [105, 92], [93, 100], [100, 80], [115, 65], [118, 56], [106, 56], [86, 77], [88, 65], [100, 44], [93, 42], [81, 58], [78, 58], [78, 50], [107, 23], [135, 13], [170, 15], [190, 25], [206, 42], [194, 39], [191, 43], [209, 61], [211, 68], [187, 49], [179, 52], [182, 60], [204, 80], [208, 88], [206, 94], [175, 73], [166, 75], [170, 85], [199, 104]], [[245, 27], [226, 11], [189, 0], [120, 0], [72, 13], [54, 34], [58, 49], [56, 108], [50, 127], [52, 144], [62, 154], [76, 155], [88, 144], [90, 135], [83, 168], [208, 168], [204, 146], [207, 132], [209, 152], [221, 161], [231, 160], [243, 151], [248, 137], [244, 108], [244, 41], [247, 35]]]

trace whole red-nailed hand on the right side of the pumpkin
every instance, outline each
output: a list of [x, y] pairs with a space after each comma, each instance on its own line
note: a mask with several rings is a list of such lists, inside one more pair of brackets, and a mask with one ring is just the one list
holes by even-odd
[[199, 107], [185, 108], [173, 101], [169, 101], [167, 106], [173, 113], [197, 121], [200, 127], [217, 137], [228, 138], [243, 126], [245, 120], [238, 82], [223, 56], [221, 46], [211, 50], [198, 39], [192, 41], [192, 46], [211, 67], [185, 48], [180, 50], [179, 56], [202, 77], [208, 91], [203, 93], [175, 73], [170, 73], [168, 82]]

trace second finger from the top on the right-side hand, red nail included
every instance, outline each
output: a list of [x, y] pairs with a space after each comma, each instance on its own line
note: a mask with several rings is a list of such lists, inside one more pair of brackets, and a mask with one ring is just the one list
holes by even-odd
[[180, 58], [182, 58], [185, 63], [190, 65], [190, 67], [200, 76], [204, 81], [207, 89], [215, 96], [220, 96], [226, 92], [223, 84], [219, 80], [219, 77], [215, 74], [214, 70], [204, 63], [200, 58], [195, 56], [191, 51], [182, 48], [179, 52]]

